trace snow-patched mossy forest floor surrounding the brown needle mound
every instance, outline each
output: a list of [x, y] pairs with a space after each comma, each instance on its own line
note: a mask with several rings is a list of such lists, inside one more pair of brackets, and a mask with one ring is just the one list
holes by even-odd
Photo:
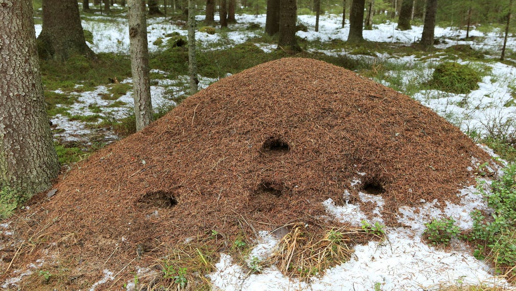
[[[198, 17], [199, 21], [202, 19]], [[301, 15], [298, 21], [308, 31], [297, 33], [304, 51], [296, 56], [325, 60], [409, 95], [475, 142], [498, 147], [509, 159], [514, 157], [514, 152], [500, 146], [499, 141], [516, 139], [516, 37], [509, 37], [508, 57], [499, 62], [502, 31], [493, 27], [476, 27], [469, 39], [465, 38], [464, 30], [437, 27], [438, 44], [431, 51], [421, 52], [413, 43], [420, 38], [422, 26], [401, 32], [395, 29], [394, 23], [377, 24], [373, 30], [364, 30], [366, 43], [349, 45], [345, 43], [349, 28], [347, 25], [341, 28], [340, 16], [321, 16], [317, 33], [313, 31], [314, 16]], [[178, 19], [152, 18], [148, 24], [152, 102], [158, 115], [163, 115], [188, 97], [187, 52], [182, 44], [187, 32], [185, 23]], [[264, 25], [264, 15], [239, 15], [237, 23], [227, 29], [217, 27], [214, 34], [198, 32], [200, 88], [268, 60], [289, 56], [287, 52], [276, 50], [276, 40], [263, 33]], [[70, 167], [73, 162], [86, 159], [90, 151], [130, 134], [134, 120], [127, 21], [123, 14], [91, 13], [83, 15], [83, 27], [91, 33], [87, 33], [90, 46], [99, 54], [96, 64], [81, 58], [65, 65], [42, 64], [45, 98], [58, 151], [61, 161], [69, 163]], [[40, 31], [41, 25], [37, 24], [36, 34]], [[114, 63], [118, 64], [117, 68], [110, 68]], [[464, 84], [448, 84], [449, 87], [443, 88], [442, 84], [436, 84], [434, 69], [447, 63], [473, 69], [480, 78], [473, 82], [477, 86], [464, 88]], [[70, 76], [63, 78], [67, 74]], [[483, 145], [482, 148], [496, 157], [489, 148]], [[472, 161], [473, 172], [484, 166]], [[492, 171], [498, 174], [498, 169]], [[451, 288], [449, 286], [467, 285], [483, 286], [478, 289], [489, 286], [515, 289], [504, 276], [494, 275], [495, 266], [473, 256], [473, 250], [464, 242], [454, 239], [450, 247], [443, 248], [432, 246], [424, 239], [425, 222], [451, 217], [465, 232], [473, 226], [469, 213], [474, 209], [488, 209], [474, 187], [458, 190], [460, 202], [457, 204], [443, 207], [428, 201], [418, 207], [401, 209], [399, 223], [404, 227], [384, 226], [381, 217], [367, 220], [364, 211], [352, 204], [338, 206], [325, 201], [329, 215], [358, 228], [376, 231], [383, 239], [357, 245], [348, 262], [327, 270], [322, 276], [314, 275], [309, 281], [289, 278], [276, 266], [262, 264], [279, 240], [260, 229], [255, 239], [240, 238], [233, 242], [237, 249], [250, 244], [245, 255], [237, 258], [221, 253], [219, 261], [213, 262], [209, 273], [205, 274], [206, 278], [213, 289], [221, 290], [445, 290]], [[376, 208], [384, 203], [381, 196], [361, 195], [361, 199]], [[2, 237], [8, 238], [10, 223], [0, 224], [0, 227]], [[123, 237], [121, 239], [123, 242]], [[52, 271], [40, 269], [39, 263], [20, 268], [19, 275], [0, 282], [0, 287], [14, 289], [30, 273], [41, 278], [45, 274], [51, 277]], [[114, 287], [120, 280], [116, 278], [118, 270], [103, 270], [103, 277], [92, 282], [90, 290], [106, 289], [106, 286], [135, 290], [138, 281], [156, 273], [145, 268], [132, 271], [132, 280], [118, 282]], [[169, 271], [165, 274], [170, 275], [173, 282], [179, 280], [174, 286], [181, 288], [181, 280], [187, 276], [177, 268]], [[54, 277], [57, 276], [54, 274]]]

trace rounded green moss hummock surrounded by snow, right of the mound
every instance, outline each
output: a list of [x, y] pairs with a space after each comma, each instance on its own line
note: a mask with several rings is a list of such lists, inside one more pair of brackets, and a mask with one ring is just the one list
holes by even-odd
[[478, 89], [478, 82], [481, 80], [481, 74], [477, 69], [469, 65], [447, 62], [436, 67], [428, 85], [432, 89], [467, 94]]

